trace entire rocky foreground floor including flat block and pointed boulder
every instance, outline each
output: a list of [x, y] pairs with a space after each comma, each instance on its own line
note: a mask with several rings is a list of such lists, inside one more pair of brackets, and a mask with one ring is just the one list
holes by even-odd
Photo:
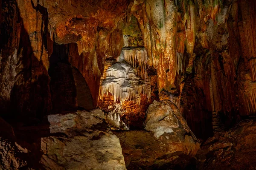
[[[216, 133], [202, 144], [177, 107], [168, 100], [154, 101], [149, 106], [145, 130], [119, 130], [109, 123], [108, 116], [100, 109], [49, 115], [47, 120], [49, 133], [30, 145], [18, 139], [20, 128], [0, 120], [0, 169], [212, 170], [255, 167], [252, 162], [256, 162], [256, 120], [253, 119], [244, 120], [229, 131]], [[36, 136], [35, 131], [28, 130], [32, 128], [27, 127], [26, 133]]]

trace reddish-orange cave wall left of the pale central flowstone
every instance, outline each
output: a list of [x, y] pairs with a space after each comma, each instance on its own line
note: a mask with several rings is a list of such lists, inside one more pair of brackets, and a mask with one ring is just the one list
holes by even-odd
[[[41, 118], [52, 111], [58, 97], [51, 87], [55, 78], [48, 74], [50, 60], [54, 51], [62, 55], [62, 49], [55, 48], [56, 45], [67, 46], [72, 81], [81, 78], [74, 73], [77, 69], [88, 82], [95, 108], [105, 59], [119, 56], [122, 48], [122, 18], [128, 6], [126, 0], [1, 1], [1, 115]], [[76, 94], [81, 92], [81, 88], [72, 87]], [[79, 104], [84, 100], [81, 95], [70, 100], [74, 102], [72, 107], [83, 106]]]

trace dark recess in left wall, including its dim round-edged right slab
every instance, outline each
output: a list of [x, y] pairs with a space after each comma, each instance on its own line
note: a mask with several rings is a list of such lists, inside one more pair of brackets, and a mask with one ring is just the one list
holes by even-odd
[[82, 74], [68, 62], [69, 45], [53, 45], [49, 76], [52, 113], [93, 109], [90, 88]]

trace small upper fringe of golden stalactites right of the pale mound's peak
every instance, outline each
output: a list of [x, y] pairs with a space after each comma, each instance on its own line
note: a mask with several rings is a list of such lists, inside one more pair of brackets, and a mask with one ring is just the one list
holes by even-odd
[[[136, 63], [138, 62], [140, 67], [145, 67], [147, 65], [147, 51], [143, 47], [125, 47], [122, 48], [122, 52], [124, 54], [124, 59], [133, 67], [136, 67]], [[120, 59], [118, 58], [118, 61]], [[137, 62], [136, 62], [137, 61]]]

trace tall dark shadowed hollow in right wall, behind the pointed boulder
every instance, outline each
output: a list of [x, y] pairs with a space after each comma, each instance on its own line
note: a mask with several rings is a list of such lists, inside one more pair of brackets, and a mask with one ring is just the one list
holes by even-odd
[[[196, 41], [194, 52], [196, 58], [193, 63], [192, 73], [186, 76], [180, 98], [180, 111], [183, 113], [187, 124], [197, 138], [207, 139], [212, 136], [212, 111], [209, 102], [210, 89], [210, 60], [211, 56], [199, 41]], [[184, 54], [186, 55], [186, 54]], [[200, 63], [205, 63], [201, 65]], [[197, 77], [196, 70], [206, 70]]]

